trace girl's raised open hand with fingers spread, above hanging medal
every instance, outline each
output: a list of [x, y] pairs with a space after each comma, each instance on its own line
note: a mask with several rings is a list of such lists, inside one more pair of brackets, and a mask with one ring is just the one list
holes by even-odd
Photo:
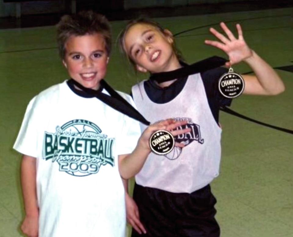
[[238, 39], [234, 37], [233, 33], [229, 30], [224, 22], [221, 22], [220, 26], [222, 27], [223, 31], [225, 31], [228, 38], [216, 31], [214, 28], [210, 28], [210, 32], [221, 42], [212, 40], [205, 40], [204, 42], [207, 45], [212, 45], [216, 48], [222, 49], [229, 56], [230, 61], [226, 62], [227, 67], [230, 67], [233, 64], [239, 63], [244, 59], [252, 56], [252, 50], [244, 41], [240, 24], [236, 24]]

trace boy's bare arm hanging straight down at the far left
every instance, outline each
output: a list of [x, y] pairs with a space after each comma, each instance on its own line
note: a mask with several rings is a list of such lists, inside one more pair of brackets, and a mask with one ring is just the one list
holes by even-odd
[[23, 156], [20, 177], [25, 209], [21, 230], [29, 237], [37, 237], [39, 208], [36, 189], [36, 158]]

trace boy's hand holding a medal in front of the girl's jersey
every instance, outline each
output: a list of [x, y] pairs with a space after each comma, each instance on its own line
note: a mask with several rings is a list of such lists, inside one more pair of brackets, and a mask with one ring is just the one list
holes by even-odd
[[[175, 121], [174, 119], [166, 119], [164, 121], [161, 121], [159, 123], [152, 124], [144, 130], [143, 134], [139, 138], [140, 145], [144, 148], [150, 151], [150, 144], [149, 139], [151, 135], [158, 130], [165, 130], [171, 132], [171, 134], [175, 137], [177, 135], [190, 132], [191, 128], [186, 129], [179, 129], [179, 130], [173, 130], [176, 127], [182, 126], [187, 124], [187, 121]], [[184, 144], [175, 142], [175, 146], [184, 147]]]

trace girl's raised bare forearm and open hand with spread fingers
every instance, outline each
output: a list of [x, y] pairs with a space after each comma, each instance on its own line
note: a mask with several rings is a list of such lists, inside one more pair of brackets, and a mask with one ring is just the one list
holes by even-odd
[[244, 41], [242, 29], [239, 24], [236, 25], [238, 31], [238, 39], [234, 37], [225, 23], [220, 23], [220, 26], [226, 33], [227, 37], [210, 28], [210, 31], [219, 41], [206, 40], [205, 43], [223, 50], [229, 56], [227, 67], [233, 64], [244, 61], [247, 63], [255, 76], [242, 75], [245, 81], [245, 94], [251, 95], [277, 95], [285, 90], [284, 84], [273, 68], [251, 50]]

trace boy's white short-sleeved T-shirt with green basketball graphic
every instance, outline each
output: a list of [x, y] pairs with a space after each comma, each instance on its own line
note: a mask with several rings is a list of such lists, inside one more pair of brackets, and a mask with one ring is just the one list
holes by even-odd
[[118, 155], [131, 153], [139, 135], [137, 121], [66, 81], [31, 100], [14, 149], [37, 158], [40, 237], [125, 236]]

